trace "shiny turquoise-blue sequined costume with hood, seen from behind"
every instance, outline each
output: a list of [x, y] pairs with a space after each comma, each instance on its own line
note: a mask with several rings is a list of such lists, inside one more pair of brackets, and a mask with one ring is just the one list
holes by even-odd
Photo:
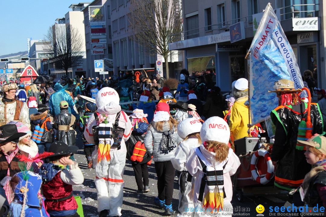
[[55, 92], [51, 94], [49, 99], [49, 107], [50, 107], [50, 114], [57, 115], [60, 113], [60, 102], [67, 101], [68, 102], [68, 111], [69, 113], [75, 115], [76, 119], [79, 118], [79, 115], [76, 114], [73, 106], [77, 101], [73, 100], [71, 96], [65, 91], [68, 88], [68, 85], [63, 87], [60, 82], [57, 82], [54, 85]]

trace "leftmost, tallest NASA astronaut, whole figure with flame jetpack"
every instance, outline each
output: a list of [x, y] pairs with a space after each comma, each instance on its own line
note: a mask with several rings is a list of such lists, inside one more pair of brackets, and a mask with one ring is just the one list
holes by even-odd
[[[127, 153], [125, 141], [130, 137], [132, 125], [128, 115], [121, 111], [120, 97], [113, 88], [102, 88], [95, 100], [97, 113], [89, 117], [84, 136], [89, 143], [97, 143], [96, 150], [92, 155], [96, 174], [97, 210], [100, 212], [99, 217], [105, 217], [107, 214], [109, 216], [121, 216], [123, 187], [125, 185], [122, 178]], [[119, 130], [113, 129], [115, 132], [119, 132], [119, 135], [112, 138], [112, 134], [110, 134], [112, 131], [105, 130], [106, 138], [99, 138], [101, 141], [95, 143], [92, 128], [97, 126], [99, 128], [100, 124], [104, 125], [105, 129], [113, 129], [114, 127], [114, 129]]]

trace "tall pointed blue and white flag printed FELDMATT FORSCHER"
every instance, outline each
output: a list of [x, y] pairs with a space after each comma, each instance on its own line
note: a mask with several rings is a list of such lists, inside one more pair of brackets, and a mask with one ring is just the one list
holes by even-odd
[[249, 87], [251, 124], [257, 124], [270, 116], [278, 106], [274, 82], [279, 79], [294, 81], [294, 87], [304, 84], [293, 50], [281, 23], [270, 3], [265, 8], [255, 37], [249, 49]]

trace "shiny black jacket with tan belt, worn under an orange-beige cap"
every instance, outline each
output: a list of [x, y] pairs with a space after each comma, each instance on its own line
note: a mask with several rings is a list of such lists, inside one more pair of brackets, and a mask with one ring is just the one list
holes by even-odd
[[68, 112], [68, 110], [62, 110], [58, 115], [53, 118], [53, 128], [58, 129], [56, 140], [65, 142], [68, 146], [76, 144], [76, 132], [70, 126], [68, 131], [59, 130], [59, 126], [69, 126], [71, 117], [74, 116]]

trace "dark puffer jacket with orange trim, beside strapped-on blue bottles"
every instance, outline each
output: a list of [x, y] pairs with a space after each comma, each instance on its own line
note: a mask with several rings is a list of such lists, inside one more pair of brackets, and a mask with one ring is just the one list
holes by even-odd
[[[45, 115], [43, 113], [41, 113], [41, 114], [36, 113], [36, 114], [30, 115], [29, 117], [31, 119], [31, 131], [33, 132], [37, 125], [39, 125], [41, 127], [42, 124], [44, 123], [44, 121], [47, 120], [47, 118], [50, 116]], [[53, 127], [52, 127], [51, 121], [49, 121], [49, 119], [48, 119], [45, 122], [44, 132], [43, 132], [40, 143], [52, 143], [53, 142], [52, 129], [53, 129]]]

